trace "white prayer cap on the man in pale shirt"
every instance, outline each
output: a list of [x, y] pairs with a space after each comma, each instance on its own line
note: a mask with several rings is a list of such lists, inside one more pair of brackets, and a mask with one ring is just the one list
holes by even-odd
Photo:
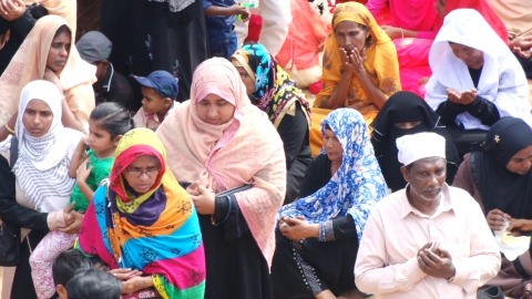
[[426, 157], [446, 158], [446, 138], [436, 133], [405, 135], [397, 138], [396, 144], [397, 158], [405, 166]]

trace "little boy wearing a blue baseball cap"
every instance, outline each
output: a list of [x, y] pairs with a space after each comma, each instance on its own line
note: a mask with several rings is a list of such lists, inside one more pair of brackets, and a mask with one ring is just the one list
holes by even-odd
[[166, 71], [155, 71], [147, 76], [133, 76], [142, 89], [142, 107], [133, 116], [135, 127], [153, 131], [164, 121], [168, 112], [178, 103], [177, 79]]

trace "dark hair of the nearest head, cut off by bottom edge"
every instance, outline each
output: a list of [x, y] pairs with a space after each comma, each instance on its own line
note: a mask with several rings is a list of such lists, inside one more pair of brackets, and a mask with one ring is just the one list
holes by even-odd
[[81, 270], [66, 285], [69, 299], [120, 299], [122, 282], [113, 275], [100, 270]]

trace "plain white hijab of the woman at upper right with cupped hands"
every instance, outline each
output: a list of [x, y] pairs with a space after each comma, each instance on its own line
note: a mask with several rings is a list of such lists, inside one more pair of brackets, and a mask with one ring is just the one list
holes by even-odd
[[[492, 102], [501, 117], [520, 117], [532, 126], [529, 85], [524, 71], [508, 45], [473, 9], [457, 9], [443, 20], [429, 53], [432, 76], [426, 86], [427, 103], [436, 111], [447, 101], [447, 89], [464, 92], [474, 87], [468, 65], [452, 53], [449, 42], [484, 53], [477, 94]], [[466, 130], [489, 128], [468, 112], [459, 114], [456, 122]]]

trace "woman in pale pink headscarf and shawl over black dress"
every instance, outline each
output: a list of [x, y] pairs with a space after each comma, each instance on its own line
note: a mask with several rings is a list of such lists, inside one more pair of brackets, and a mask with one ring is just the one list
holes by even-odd
[[[205, 298], [269, 299], [275, 219], [286, 188], [283, 142], [229, 61], [200, 64], [191, 95], [157, 134], [177, 181], [193, 183], [187, 192], [205, 245]], [[216, 196], [246, 184], [252, 187]]]

